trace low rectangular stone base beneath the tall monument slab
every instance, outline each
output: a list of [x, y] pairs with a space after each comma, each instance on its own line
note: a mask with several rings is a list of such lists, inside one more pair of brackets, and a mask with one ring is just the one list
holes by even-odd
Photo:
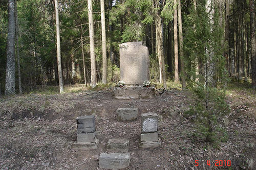
[[116, 87], [113, 93], [116, 99], [147, 99], [155, 96], [155, 87]]

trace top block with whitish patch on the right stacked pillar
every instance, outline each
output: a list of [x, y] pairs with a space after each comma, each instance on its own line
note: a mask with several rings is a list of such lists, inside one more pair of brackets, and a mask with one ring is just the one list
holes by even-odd
[[150, 133], [157, 132], [158, 115], [156, 113], [141, 114], [141, 132]]

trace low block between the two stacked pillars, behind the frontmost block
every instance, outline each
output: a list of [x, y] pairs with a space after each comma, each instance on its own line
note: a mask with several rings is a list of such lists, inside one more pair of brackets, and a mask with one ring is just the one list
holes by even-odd
[[106, 143], [106, 151], [122, 153], [129, 151], [129, 140], [123, 138], [109, 139]]

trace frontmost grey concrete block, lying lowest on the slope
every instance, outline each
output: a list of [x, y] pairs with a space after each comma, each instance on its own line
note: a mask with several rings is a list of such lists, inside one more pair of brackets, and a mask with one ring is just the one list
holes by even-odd
[[122, 169], [130, 164], [130, 153], [102, 153], [99, 155], [99, 167], [105, 169]]

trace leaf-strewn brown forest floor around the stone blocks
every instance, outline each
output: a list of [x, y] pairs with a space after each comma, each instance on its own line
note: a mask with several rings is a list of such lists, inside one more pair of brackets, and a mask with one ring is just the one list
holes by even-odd
[[[256, 92], [246, 84], [233, 83], [227, 90], [229, 138], [217, 149], [191, 135], [195, 124], [183, 116], [193, 104], [189, 91], [170, 88], [152, 99], [118, 100], [111, 90], [0, 98], [0, 169], [99, 169], [106, 142], [118, 137], [130, 139], [126, 169], [256, 169]], [[158, 113], [161, 147], [140, 148], [140, 114], [134, 122], [120, 122], [119, 107]], [[73, 150], [76, 117], [92, 113], [97, 150]], [[223, 165], [216, 166], [215, 160]], [[225, 160], [231, 165], [224, 166]]]

